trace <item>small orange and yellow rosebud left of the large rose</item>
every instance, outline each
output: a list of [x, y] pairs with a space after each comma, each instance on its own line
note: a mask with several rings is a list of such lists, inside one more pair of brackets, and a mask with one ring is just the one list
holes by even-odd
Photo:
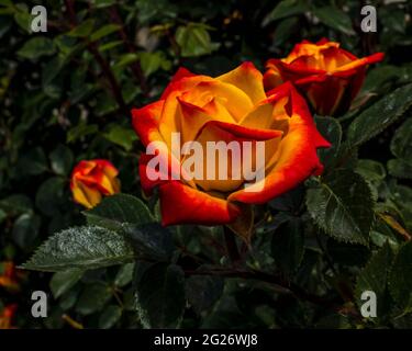
[[108, 160], [82, 160], [71, 173], [70, 189], [75, 202], [87, 208], [94, 207], [102, 196], [120, 192], [118, 169]]

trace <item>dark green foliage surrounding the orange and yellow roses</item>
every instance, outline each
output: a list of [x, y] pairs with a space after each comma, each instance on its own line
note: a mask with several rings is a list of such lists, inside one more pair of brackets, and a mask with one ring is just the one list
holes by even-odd
[[[40, 2], [47, 32], [31, 33]], [[16, 327], [411, 328], [412, 5], [374, 3], [377, 33], [360, 31], [355, 0], [0, 0], [0, 263], [34, 270], [20, 292], [0, 286], [0, 313], [30, 310], [44, 290], [48, 318], [22, 313]], [[314, 116], [332, 144], [319, 150], [323, 176], [255, 206], [238, 260], [221, 227], [162, 227], [156, 193], [142, 194], [131, 109], [180, 66], [264, 70], [321, 37], [386, 54], [349, 112]], [[122, 194], [85, 211], [70, 173], [92, 158], [119, 169]], [[377, 318], [360, 315], [365, 291]]]

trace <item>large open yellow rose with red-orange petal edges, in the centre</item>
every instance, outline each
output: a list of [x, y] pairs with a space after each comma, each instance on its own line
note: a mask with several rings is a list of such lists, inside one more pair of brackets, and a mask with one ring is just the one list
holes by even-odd
[[[179, 69], [160, 100], [132, 111], [133, 125], [145, 147], [160, 143], [166, 147], [140, 159], [142, 188], [149, 194], [159, 189], [164, 225], [227, 224], [242, 213], [243, 204], [261, 204], [294, 188], [309, 176], [320, 173], [318, 147], [327, 147], [315, 128], [307, 103], [286, 83], [265, 95], [263, 76], [250, 63], [211, 78]], [[187, 181], [172, 179], [186, 172], [182, 158], [171, 150], [171, 135], [182, 141], [265, 141], [265, 178], [244, 189], [245, 180]], [[151, 180], [153, 157], [169, 162], [168, 178]], [[179, 167], [176, 168], [176, 165]], [[174, 167], [175, 166], [175, 167]], [[254, 191], [256, 190], [256, 191]]]

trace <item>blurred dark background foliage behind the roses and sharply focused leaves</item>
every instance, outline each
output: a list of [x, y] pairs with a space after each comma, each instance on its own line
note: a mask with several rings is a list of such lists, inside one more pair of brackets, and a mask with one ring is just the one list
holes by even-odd
[[[29, 30], [35, 4], [47, 9], [46, 33]], [[321, 37], [342, 43], [359, 57], [385, 52], [385, 61], [369, 69], [353, 110], [339, 123], [316, 120], [326, 138], [341, 140], [342, 127], [396, 88], [412, 82], [412, 3], [368, 1], [377, 8], [377, 33], [360, 31], [364, 4], [350, 0], [0, 0], [0, 261], [20, 264], [52, 233], [83, 223], [82, 208], [73, 203], [69, 192], [69, 174], [79, 160], [110, 159], [120, 170], [122, 191], [143, 199], [137, 176], [143, 147], [131, 128], [130, 110], [156, 100], [179, 66], [210, 76], [243, 60], [264, 69], [268, 58], [287, 56], [296, 43]], [[305, 211], [303, 186], [257, 208], [261, 222], [246, 264], [270, 267], [285, 282], [325, 296], [324, 305], [311, 302], [303, 292], [298, 297], [299, 293], [285, 294], [265, 279], [193, 275], [186, 281], [189, 302], [181, 326], [411, 327], [412, 299], [392, 301], [402, 292], [410, 294], [411, 275], [403, 283], [393, 282], [394, 294], [380, 292], [389, 298], [389, 307], [379, 309], [380, 317], [374, 320], [356, 315], [353, 291], [356, 282], [361, 290], [364, 281], [381, 275], [390, 264], [390, 248], [402, 250], [404, 238], [410, 238], [410, 117], [407, 109], [389, 128], [350, 154], [347, 163], [357, 171], [355, 177], [361, 177], [354, 181], [366, 181], [374, 206], [382, 210], [368, 245], [339, 240], [319, 229]], [[331, 151], [323, 152], [326, 172], [331, 167], [333, 174], [333, 156], [331, 160]], [[144, 201], [156, 213], [155, 200]], [[186, 270], [199, 267], [199, 261], [224, 262], [219, 228], [171, 230]], [[412, 272], [410, 246], [404, 247], [409, 251], [397, 256], [403, 264], [397, 268], [401, 274]], [[19, 291], [0, 286], [0, 310], [18, 304], [13, 322], [18, 328], [141, 328], [134, 314], [133, 268], [129, 263], [86, 273], [69, 271], [52, 280], [49, 273], [29, 272]], [[34, 290], [49, 294], [46, 319], [30, 315]], [[341, 309], [329, 308], [329, 302], [336, 299], [343, 299]]]

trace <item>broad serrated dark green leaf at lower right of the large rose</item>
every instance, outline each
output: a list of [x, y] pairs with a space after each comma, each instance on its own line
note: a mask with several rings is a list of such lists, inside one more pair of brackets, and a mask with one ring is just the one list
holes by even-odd
[[366, 181], [350, 170], [335, 170], [308, 190], [314, 222], [339, 241], [366, 245], [374, 222], [374, 201]]

